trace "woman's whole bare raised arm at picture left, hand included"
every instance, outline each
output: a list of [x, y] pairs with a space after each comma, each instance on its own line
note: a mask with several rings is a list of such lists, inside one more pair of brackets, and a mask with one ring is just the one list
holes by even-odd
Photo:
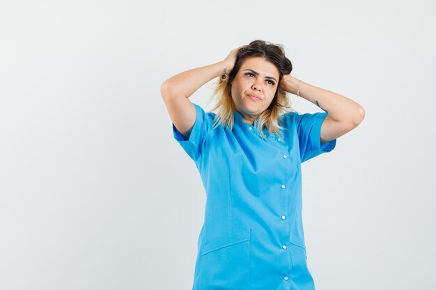
[[160, 93], [166, 110], [174, 126], [185, 138], [189, 136], [196, 119], [196, 109], [188, 98], [208, 81], [230, 72], [235, 64], [236, 54], [242, 47], [233, 49], [224, 61], [180, 72], [162, 83]]

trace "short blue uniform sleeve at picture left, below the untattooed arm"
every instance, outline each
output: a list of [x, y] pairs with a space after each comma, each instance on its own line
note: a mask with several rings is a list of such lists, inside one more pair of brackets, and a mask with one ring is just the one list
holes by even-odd
[[[192, 103], [194, 104], [194, 103]], [[196, 119], [188, 138], [185, 138], [180, 131], [173, 124], [173, 136], [177, 142], [182, 146], [183, 150], [191, 157], [192, 160], [197, 161], [202, 152], [205, 138], [208, 135], [209, 123], [208, 114], [205, 113], [201, 106], [194, 104], [196, 108]]]

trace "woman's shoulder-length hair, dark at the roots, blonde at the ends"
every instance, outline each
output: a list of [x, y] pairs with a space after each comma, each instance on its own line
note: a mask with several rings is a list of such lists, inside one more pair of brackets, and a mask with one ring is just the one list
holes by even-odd
[[[235, 79], [235, 75], [240, 70], [240, 67], [244, 63], [246, 58], [262, 57], [266, 61], [270, 61], [279, 70], [279, 80], [277, 81], [277, 90], [274, 94], [274, 98], [270, 106], [268, 106], [263, 113], [259, 115], [254, 124], [255, 129], [258, 131], [262, 138], [266, 139], [263, 134], [263, 128], [266, 127], [270, 134], [277, 134], [281, 136], [280, 129], [286, 129], [281, 127], [283, 124], [280, 117], [283, 113], [288, 111], [294, 111], [290, 104], [290, 99], [286, 90], [280, 88], [280, 81], [283, 74], [289, 74], [292, 69], [292, 63], [285, 56], [285, 52], [282, 45], [274, 45], [270, 42], [263, 40], [254, 40], [249, 45], [242, 47], [238, 51], [236, 56], [235, 65], [228, 74], [223, 74], [219, 78], [217, 86], [212, 92], [212, 95], [216, 97], [216, 104], [211, 111], [217, 111], [214, 121], [213, 129], [224, 124], [230, 129], [234, 124], [234, 113], [236, 110], [235, 103], [231, 97], [231, 83]], [[224, 126], [224, 127], [226, 127]]]

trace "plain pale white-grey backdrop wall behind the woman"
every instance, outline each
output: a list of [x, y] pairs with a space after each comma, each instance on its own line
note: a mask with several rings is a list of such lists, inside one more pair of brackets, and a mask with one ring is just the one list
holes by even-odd
[[256, 39], [366, 111], [302, 164], [317, 290], [436, 289], [435, 5], [1, 0], [0, 289], [192, 289], [205, 191], [159, 87]]

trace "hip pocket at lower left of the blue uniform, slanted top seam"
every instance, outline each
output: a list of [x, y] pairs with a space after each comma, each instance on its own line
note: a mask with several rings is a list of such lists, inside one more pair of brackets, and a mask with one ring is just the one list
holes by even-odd
[[198, 269], [201, 289], [244, 290], [249, 286], [251, 229], [205, 243]]

